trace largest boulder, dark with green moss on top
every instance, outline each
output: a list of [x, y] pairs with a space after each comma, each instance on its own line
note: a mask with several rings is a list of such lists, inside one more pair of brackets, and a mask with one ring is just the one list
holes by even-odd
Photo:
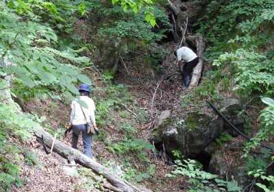
[[179, 150], [188, 157], [195, 157], [223, 131], [223, 120], [192, 112], [186, 121], [170, 123], [163, 131], [166, 152]]

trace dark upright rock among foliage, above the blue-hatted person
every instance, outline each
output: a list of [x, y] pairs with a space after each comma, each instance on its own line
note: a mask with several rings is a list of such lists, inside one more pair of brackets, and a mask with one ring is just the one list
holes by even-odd
[[99, 43], [98, 49], [95, 52], [95, 65], [99, 69], [109, 71], [114, 75], [118, 68], [119, 59], [121, 56], [121, 40], [114, 38], [111, 40], [104, 39]]

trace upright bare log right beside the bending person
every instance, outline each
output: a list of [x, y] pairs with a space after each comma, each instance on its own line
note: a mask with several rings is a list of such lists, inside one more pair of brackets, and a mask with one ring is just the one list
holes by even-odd
[[203, 69], [202, 56], [203, 56], [204, 47], [205, 47], [205, 43], [203, 42], [202, 34], [196, 35], [196, 45], [197, 45], [197, 56], [199, 57], [199, 62], [193, 70], [189, 88], [198, 86], [199, 80], [201, 78], [201, 70]]

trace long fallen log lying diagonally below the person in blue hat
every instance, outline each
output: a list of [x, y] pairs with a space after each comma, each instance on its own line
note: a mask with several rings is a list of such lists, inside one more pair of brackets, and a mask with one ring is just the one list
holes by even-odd
[[[51, 136], [51, 134], [49, 134], [48, 132], [46, 132], [45, 130], [39, 127], [35, 128], [33, 132], [38, 138], [41, 138], [43, 136], [44, 141], [48, 147], [52, 145], [53, 136]], [[88, 156], [84, 155], [82, 152], [79, 152], [77, 149], [73, 149], [72, 147], [69, 147], [68, 145], [62, 143], [61, 141], [55, 140], [53, 152], [56, 152], [63, 158], [75, 160], [75, 162], [78, 163], [79, 165], [92, 169], [92, 171], [106, 178], [108, 182], [110, 182], [110, 184], [112, 184], [117, 189], [121, 189], [121, 191], [129, 191], [129, 192], [149, 191], [148, 189], [142, 189], [142, 190], [138, 189], [138, 187], [135, 187], [129, 182], [116, 176], [115, 173], [113, 173], [110, 169], [103, 167], [103, 165], [88, 158]]]

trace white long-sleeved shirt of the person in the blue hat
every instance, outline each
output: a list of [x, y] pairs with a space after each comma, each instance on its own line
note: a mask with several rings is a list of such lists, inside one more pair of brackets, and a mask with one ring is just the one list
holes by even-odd
[[86, 115], [86, 118], [84, 117], [81, 106], [77, 103], [77, 101], [73, 101], [71, 103], [71, 123], [73, 125], [83, 125], [91, 122], [92, 125], [96, 125], [96, 122], [95, 122], [96, 108], [95, 108], [94, 101], [87, 96], [80, 96], [80, 100], [84, 101], [88, 105], [88, 108], [82, 107]]

